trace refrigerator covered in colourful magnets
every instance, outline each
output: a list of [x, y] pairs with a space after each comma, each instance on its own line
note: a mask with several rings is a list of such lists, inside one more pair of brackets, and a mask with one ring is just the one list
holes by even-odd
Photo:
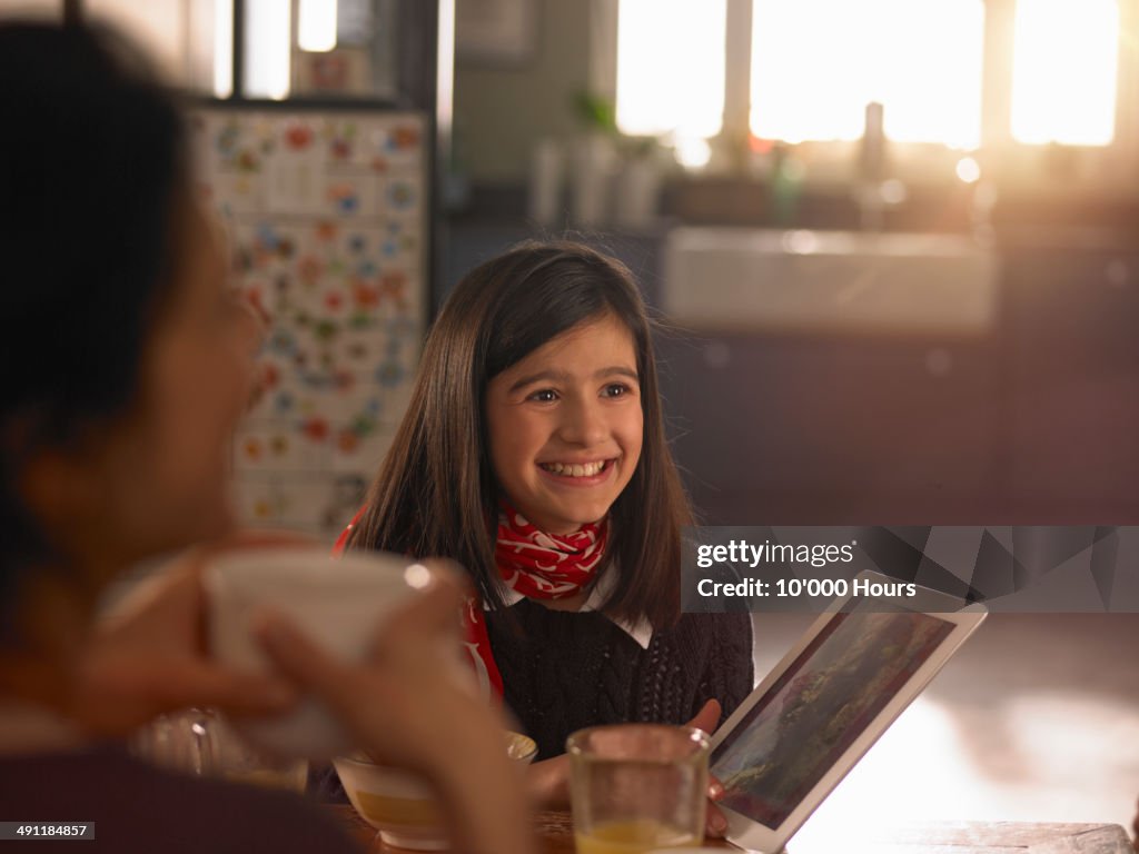
[[233, 500], [244, 525], [328, 540], [361, 507], [415, 380], [441, 251], [453, 18], [446, 2], [341, 0], [337, 48], [293, 39], [289, 93], [265, 98], [249, 95], [264, 87], [249, 6], [233, 9], [232, 91], [190, 109], [230, 285], [264, 327]]

